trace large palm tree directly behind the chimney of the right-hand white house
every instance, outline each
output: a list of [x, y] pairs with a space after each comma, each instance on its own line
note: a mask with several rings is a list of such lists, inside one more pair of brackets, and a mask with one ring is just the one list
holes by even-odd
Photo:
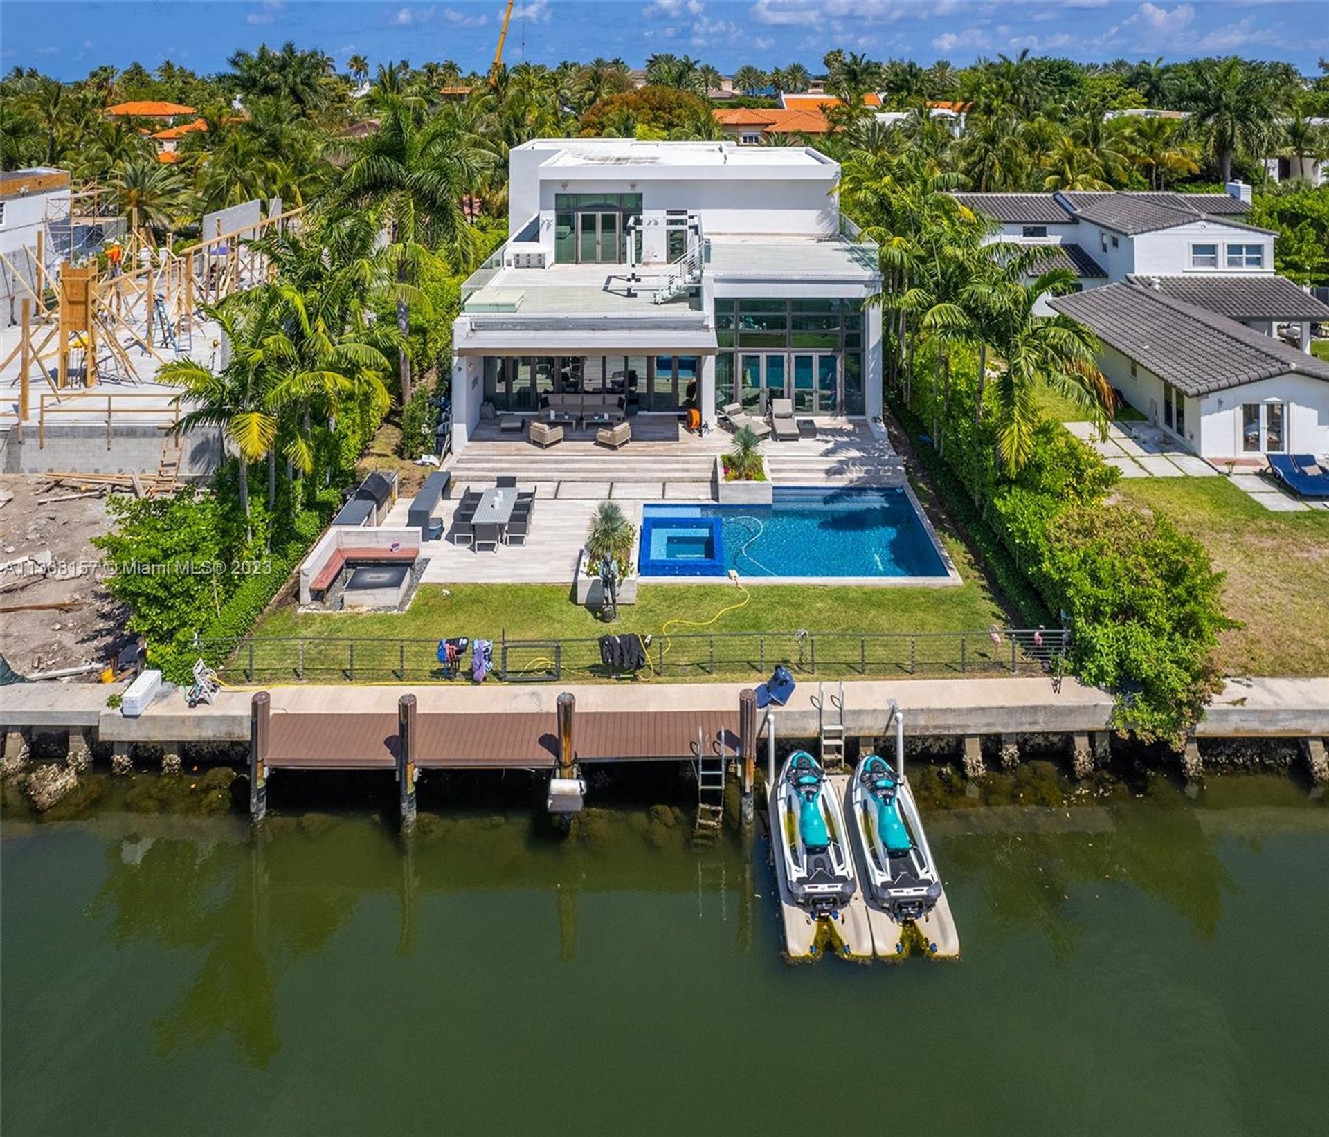
[[1263, 158], [1268, 151], [1286, 98], [1264, 65], [1231, 56], [1192, 64], [1181, 101], [1192, 112], [1192, 128], [1201, 131], [1205, 157], [1220, 181], [1229, 182], [1239, 153]]

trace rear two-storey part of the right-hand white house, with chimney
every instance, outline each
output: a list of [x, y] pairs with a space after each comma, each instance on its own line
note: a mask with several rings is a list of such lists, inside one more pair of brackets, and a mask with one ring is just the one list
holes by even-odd
[[[960, 193], [956, 199], [997, 223], [989, 240], [1057, 246], [1049, 264], [1074, 270], [1082, 290], [1131, 274], [1273, 274], [1276, 234], [1241, 220], [1251, 187], [1240, 182], [1225, 194]], [[1051, 309], [1043, 299], [1035, 311]]]

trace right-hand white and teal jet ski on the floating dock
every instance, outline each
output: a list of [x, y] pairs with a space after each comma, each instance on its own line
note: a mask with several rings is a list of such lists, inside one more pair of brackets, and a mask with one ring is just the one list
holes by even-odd
[[869, 754], [853, 774], [851, 812], [868, 897], [897, 923], [922, 919], [941, 898], [941, 881], [909, 782]]

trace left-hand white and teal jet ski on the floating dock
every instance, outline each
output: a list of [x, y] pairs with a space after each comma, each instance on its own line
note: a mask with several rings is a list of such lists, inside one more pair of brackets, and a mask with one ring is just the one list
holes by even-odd
[[853, 895], [853, 862], [840, 801], [807, 750], [795, 750], [784, 764], [773, 812], [793, 901], [819, 919], [835, 918]]

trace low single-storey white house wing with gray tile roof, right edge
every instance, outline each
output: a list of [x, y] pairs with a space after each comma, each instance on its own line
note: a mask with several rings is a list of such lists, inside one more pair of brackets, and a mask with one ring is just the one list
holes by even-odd
[[[1051, 307], [1099, 337], [1098, 365], [1112, 387], [1201, 457], [1329, 454], [1329, 363], [1179, 295], [1185, 290], [1122, 283]], [[1248, 311], [1239, 295], [1223, 299]], [[1301, 294], [1305, 311], [1316, 303]]]

